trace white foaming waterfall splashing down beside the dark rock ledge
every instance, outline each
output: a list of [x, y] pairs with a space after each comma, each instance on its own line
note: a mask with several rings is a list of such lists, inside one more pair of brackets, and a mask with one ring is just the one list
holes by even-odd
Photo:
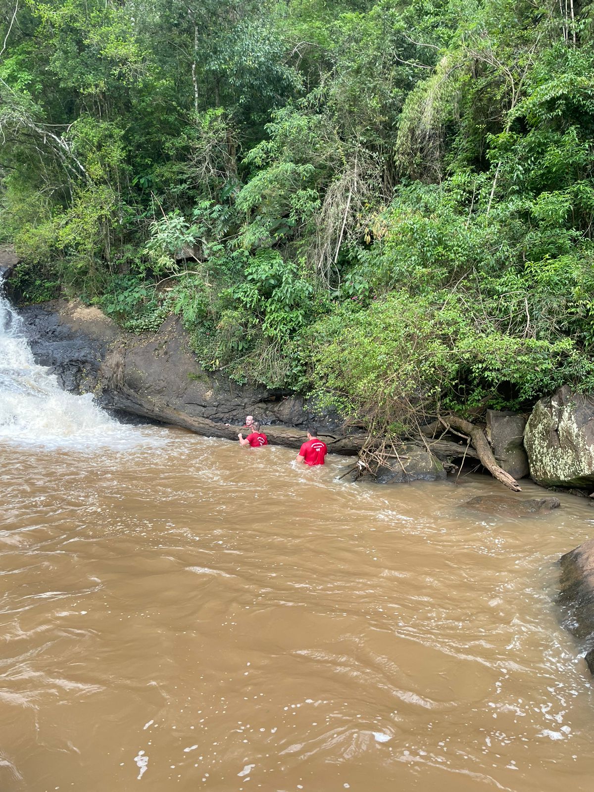
[[140, 432], [120, 425], [93, 404], [74, 396], [33, 359], [21, 318], [2, 294], [0, 277], [0, 440], [41, 445], [125, 445]]

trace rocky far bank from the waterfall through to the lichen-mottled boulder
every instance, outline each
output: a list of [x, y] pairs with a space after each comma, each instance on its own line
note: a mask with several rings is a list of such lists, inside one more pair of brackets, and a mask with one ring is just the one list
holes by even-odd
[[[238, 385], [223, 372], [204, 371], [174, 316], [158, 332], [139, 336], [78, 301], [28, 306], [21, 315], [36, 360], [51, 367], [66, 390], [92, 392], [107, 409], [230, 439], [251, 413], [271, 442], [289, 447], [299, 447], [307, 422], [317, 420], [329, 451], [356, 454], [364, 442], [363, 434], [345, 432], [335, 416], [316, 419], [297, 394]], [[541, 399], [531, 415], [487, 410], [485, 435], [497, 463], [513, 478], [530, 475], [544, 486], [588, 494], [594, 489], [592, 426], [594, 402], [565, 386]], [[430, 451], [426, 438], [407, 446], [393, 468], [379, 471], [379, 480], [434, 480], [462, 461], [478, 464], [475, 449], [455, 432], [440, 428], [438, 435], [428, 441]]]

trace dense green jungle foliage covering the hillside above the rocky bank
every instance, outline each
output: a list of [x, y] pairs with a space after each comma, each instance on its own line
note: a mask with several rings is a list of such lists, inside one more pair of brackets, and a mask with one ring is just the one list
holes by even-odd
[[17, 285], [383, 430], [592, 389], [593, 13], [2, 0]]

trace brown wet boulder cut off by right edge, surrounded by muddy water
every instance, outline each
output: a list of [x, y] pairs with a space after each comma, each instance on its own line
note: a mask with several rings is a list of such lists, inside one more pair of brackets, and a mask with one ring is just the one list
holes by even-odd
[[565, 630], [579, 638], [594, 674], [594, 539], [588, 539], [561, 558], [558, 604]]

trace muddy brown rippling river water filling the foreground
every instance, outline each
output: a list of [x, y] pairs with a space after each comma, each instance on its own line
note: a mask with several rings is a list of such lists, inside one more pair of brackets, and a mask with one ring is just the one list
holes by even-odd
[[463, 508], [489, 478], [121, 432], [0, 440], [2, 792], [592, 790], [553, 602], [588, 504], [511, 520]]

